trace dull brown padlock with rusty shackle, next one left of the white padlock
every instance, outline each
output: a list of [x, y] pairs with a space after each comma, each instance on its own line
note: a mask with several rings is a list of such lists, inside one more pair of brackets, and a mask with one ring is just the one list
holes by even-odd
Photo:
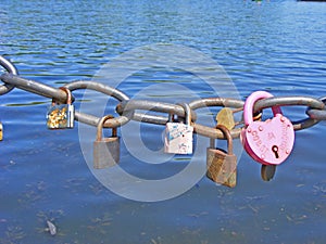
[[93, 168], [102, 169], [114, 166], [120, 162], [120, 138], [117, 129], [112, 128], [110, 138], [102, 137], [103, 125], [108, 119], [114, 118], [112, 115], [102, 117], [97, 126], [97, 138], [93, 142]]

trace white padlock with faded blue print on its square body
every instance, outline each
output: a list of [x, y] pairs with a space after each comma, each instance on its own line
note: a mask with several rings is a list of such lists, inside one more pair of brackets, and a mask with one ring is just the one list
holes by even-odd
[[174, 115], [170, 115], [170, 121], [165, 126], [164, 152], [175, 154], [192, 154], [192, 134], [193, 127], [191, 124], [191, 110], [186, 103], [183, 104], [185, 110], [185, 123], [175, 123]]

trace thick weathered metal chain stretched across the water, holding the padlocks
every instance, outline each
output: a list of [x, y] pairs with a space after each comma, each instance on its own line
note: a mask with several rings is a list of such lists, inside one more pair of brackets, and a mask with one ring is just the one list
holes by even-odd
[[[16, 87], [35, 94], [54, 99], [55, 101], [62, 103], [66, 101], [66, 93], [63, 90], [20, 77], [14, 65], [1, 55], [0, 66], [2, 66], [8, 72], [1, 74], [0, 76], [0, 79], [4, 82], [4, 85], [0, 86], [0, 95], [10, 92], [13, 88]], [[103, 127], [105, 128], [121, 127], [131, 119], [155, 125], [165, 125], [168, 121], [168, 115], [171, 114], [176, 115], [180, 118], [184, 118], [186, 116], [186, 112], [181, 105], [146, 100], [130, 100], [129, 97], [127, 97], [122, 91], [95, 81], [78, 80], [68, 82], [64, 87], [71, 91], [75, 91], [78, 89], [90, 89], [116, 99], [120, 103], [117, 104], [115, 110], [116, 113], [120, 114], [120, 116], [108, 119], [103, 125]], [[74, 101], [74, 97], [72, 98], [72, 101]], [[218, 129], [215, 129], [215, 126], [214, 128], [211, 128], [204, 125], [197, 124], [196, 110], [201, 107], [221, 106], [231, 107], [235, 108], [236, 112], [238, 112], [243, 110], [243, 104], [244, 102], [241, 100], [227, 98], [206, 98], [190, 102], [189, 106], [191, 108], [191, 126], [193, 127], [193, 132], [209, 138], [225, 139], [223, 132]], [[326, 97], [321, 99], [311, 97], [273, 97], [268, 99], [262, 99], [254, 104], [253, 112], [262, 112], [264, 108], [273, 106], [281, 107], [293, 105], [308, 107], [308, 117], [298, 121], [292, 121], [294, 130], [305, 129], [316, 125], [321, 120], [326, 120]], [[165, 113], [166, 116], [158, 115], [156, 113], [140, 113], [138, 111], [156, 112], [163, 114]], [[95, 127], [100, 120], [99, 117], [90, 114], [84, 114], [77, 111], [75, 112], [75, 119], [79, 123], [88, 124]], [[239, 125], [241, 124], [241, 121], [237, 121], [237, 124]], [[239, 138], [241, 129], [242, 128], [234, 128], [233, 130], [230, 130], [231, 137]]]

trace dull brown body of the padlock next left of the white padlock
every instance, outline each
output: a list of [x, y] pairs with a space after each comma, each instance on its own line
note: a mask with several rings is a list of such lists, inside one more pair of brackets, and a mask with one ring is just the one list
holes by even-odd
[[102, 138], [93, 142], [93, 168], [102, 169], [120, 162], [120, 138]]

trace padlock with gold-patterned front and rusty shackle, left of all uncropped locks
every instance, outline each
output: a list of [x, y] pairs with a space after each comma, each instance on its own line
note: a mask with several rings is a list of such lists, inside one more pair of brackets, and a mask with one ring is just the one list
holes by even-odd
[[74, 128], [75, 107], [72, 104], [72, 92], [65, 87], [61, 87], [60, 89], [67, 94], [66, 104], [59, 104], [52, 100], [47, 114], [48, 129]]

